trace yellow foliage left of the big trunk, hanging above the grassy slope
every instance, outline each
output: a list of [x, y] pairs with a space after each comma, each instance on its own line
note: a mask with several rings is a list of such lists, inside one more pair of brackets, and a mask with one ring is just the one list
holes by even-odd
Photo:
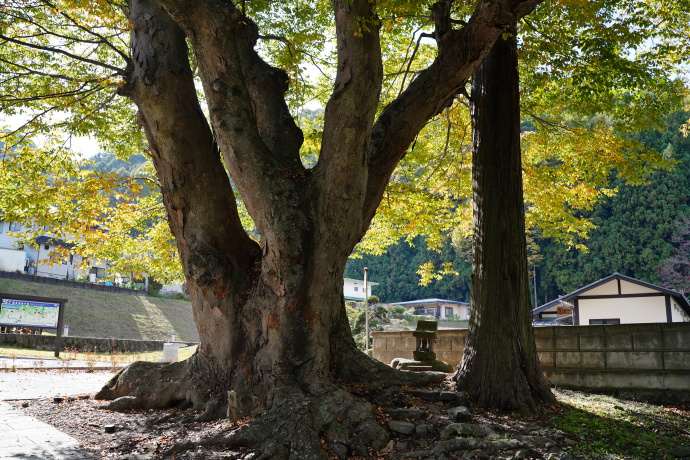
[[[25, 244], [36, 245], [35, 238], [49, 231], [74, 245], [53, 251], [52, 263], [71, 252], [82, 256], [78, 268], [86, 271], [91, 261], [107, 260], [111, 276], [181, 278], [150, 163], [140, 162], [136, 170], [141, 175], [120, 175], [75, 157], [58, 137], [46, 137], [41, 146], [22, 143], [16, 135], [4, 139], [14, 147], [5, 150], [0, 164], [0, 208], [4, 220], [24, 224], [19, 236]], [[31, 187], [27, 178], [32, 178]]]

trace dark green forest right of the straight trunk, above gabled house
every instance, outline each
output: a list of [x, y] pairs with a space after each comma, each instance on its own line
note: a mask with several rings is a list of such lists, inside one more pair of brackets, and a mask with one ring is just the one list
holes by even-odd
[[659, 153], [670, 147], [678, 163], [671, 171], [652, 174], [645, 184], [614, 179], [618, 193], [586, 215], [597, 227], [587, 240], [578, 240], [588, 251], [553, 240], [539, 241], [544, 255], [537, 277], [540, 299], [553, 299], [614, 272], [651, 283], [661, 281], [657, 267], [674, 251], [669, 240], [676, 231], [675, 222], [690, 215], [690, 139], [679, 132], [687, 118], [685, 112], [675, 113], [668, 117], [666, 130], [634, 136]]

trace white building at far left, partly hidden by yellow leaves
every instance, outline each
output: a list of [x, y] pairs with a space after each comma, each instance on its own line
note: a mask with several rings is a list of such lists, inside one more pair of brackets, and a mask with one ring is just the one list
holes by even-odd
[[0, 221], [0, 270], [9, 272], [26, 272], [46, 278], [75, 279], [89, 275], [91, 281], [104, 278], [109, 263], [107, 261], [91, 261], [88, 272], [77, 269], [81, 264], [81, 256], [69, 253], [54, 265], [48, 263], [50, 255], [57, 247], [72, 249], [73, 244], [67, 243], [50, 232], [45, 232], [35, 238], [35, 244], [23, 244], [19, 238], [9, 232], [19, 233], [22, 228], [18, 222]]

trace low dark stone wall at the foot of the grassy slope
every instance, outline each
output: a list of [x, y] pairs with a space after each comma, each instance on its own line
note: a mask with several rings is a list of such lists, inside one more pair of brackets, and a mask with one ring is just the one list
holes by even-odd
[[[132, 340], [132, 339], [102, 339], [95, 337], [62, 337], [61, 348], [76, 348], [78, 351], [98, 352], [126, 352], [126, 351], [162, 351], [163, 343], [160, 340]], [[54, 350], [54, 335], [33, 334], [0, 334], [0, 345], [34, 348], [37, 350]]]

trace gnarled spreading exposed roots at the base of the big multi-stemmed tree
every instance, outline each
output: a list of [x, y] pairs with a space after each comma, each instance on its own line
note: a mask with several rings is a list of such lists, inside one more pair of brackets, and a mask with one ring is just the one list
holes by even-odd
[[[349, 333], [349, 331], [348, 331]], [[297, 381], [284, 387], [260, 390], [270, 395], [266, 406], [240, 407], [239, 417], [246, 418], [239, 428], [224, 436], [202, 440], [197, 444], [242, 446], [260, 450], [271, 459], [328, 459], [327, 447], [343, 457], [356, 454], [366, 457], [368, 449], [378, 450], [388, 442], [388, 432], [377, 419], [375, 406], [340, 388], [338, 385], [376, 382], [376, 387], [422, 386], [440, 383], [442, 373], [411, 373], [392, 369], [360, 351], [351, 337], [333, 350], [332, 381], [322, 385], [319, 394], [309, 394], [308, 387]], [[181, 363], [137, 362], [118, 373], [96, 395], [111, 401], [107, 409], [192, 408], [202, 411], [196, 421], [228, 417], [228, 391], [237, 390], [237, 397], [251, 399], [254, 387], [234, 388], [230, 380], [214, 381], [213, 372], [204, 367], [197, 355]], [[277, 379], [288, 382], [290, 377]], [[249, 394], [247, 394], [249, 390]], [[250, 413], [253, 411], [253, 413]], [[232, 417], [230, 417], [232, 418]], [[179, 444], [170, 453], [193, 446]]]

